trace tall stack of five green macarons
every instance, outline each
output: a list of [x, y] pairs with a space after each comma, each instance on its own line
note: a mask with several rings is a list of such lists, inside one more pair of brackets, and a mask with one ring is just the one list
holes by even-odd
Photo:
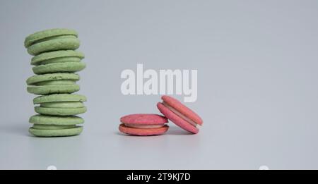
[[80, 90], [76, 72], [86, 64], [84, 54], [76, 51], [80, 46], [74, 30], [51, 29], [35, 32], [25, 38], [25, 48], [33, 55], [31, 65], [36, 75], [28, 78], [28, 92], [41, 96], [33, 99], [35, 112], [30, 118], [29, 132], [38, 137], [79, 135], [84, 123], [76, 115], [86, 112], [86, 97], [73, 94]]

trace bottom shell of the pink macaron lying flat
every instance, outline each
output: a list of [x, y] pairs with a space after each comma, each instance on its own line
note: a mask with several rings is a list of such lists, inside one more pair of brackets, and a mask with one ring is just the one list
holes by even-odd
[[130, 128], [126, 127], [124, 123], [119, 125], [119, 131], [122, 133], [126, 133], [129, 135], [139, 135], [139, 136], [147, 136], [147, 135], [162, 135], [169, 129], [168, 125], [164, 125], [161, 128]]

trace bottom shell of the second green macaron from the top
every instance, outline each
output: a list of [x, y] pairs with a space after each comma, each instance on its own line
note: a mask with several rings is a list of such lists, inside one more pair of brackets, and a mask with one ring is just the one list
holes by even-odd
[[86, 67], [86, 63], [83, 62], [66, 62], [66, 63], [49, 63], [45, 65], [39, 65], [32, 68], [35, 74], [45, 73], [74, 73], [83, 70]]

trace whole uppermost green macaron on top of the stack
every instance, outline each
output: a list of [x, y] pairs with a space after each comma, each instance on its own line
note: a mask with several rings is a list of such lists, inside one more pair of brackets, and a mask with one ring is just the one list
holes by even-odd
[[28, 53], [33, 56], [47, 51], [75, 50], [80, 45], [77, 36], [74, 30], [44, 30], [26, 37], [24, 45], [28, 48]]

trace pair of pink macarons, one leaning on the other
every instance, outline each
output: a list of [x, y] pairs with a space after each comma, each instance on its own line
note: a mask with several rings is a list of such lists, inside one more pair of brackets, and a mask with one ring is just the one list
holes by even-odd
[[119, 131], [129, 135], [162, 135], [169, 129], [168, 120], [189, 133], [199, 133], [201, 117], [177, 99], [163, 95], [157, 108], [163, 114], [129, 114], [120, 118]]

